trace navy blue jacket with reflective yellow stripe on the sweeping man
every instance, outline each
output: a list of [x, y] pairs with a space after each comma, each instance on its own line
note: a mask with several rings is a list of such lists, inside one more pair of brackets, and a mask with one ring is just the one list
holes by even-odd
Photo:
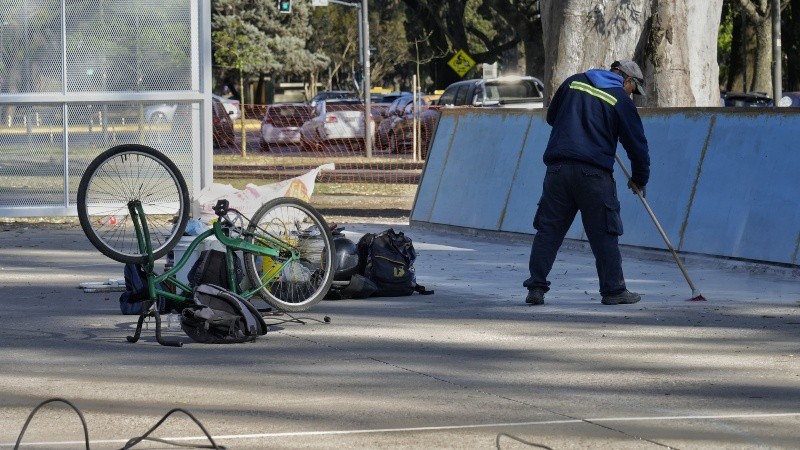
[[631, 178], [640, 187], [650, 179], [650, 154], [636, 105], [622, 77], [593, 69], [567, 78], [547, 109], [553, 129], [544, 163], [582, 161], [613, 172], [617, 142], [628, 153]]

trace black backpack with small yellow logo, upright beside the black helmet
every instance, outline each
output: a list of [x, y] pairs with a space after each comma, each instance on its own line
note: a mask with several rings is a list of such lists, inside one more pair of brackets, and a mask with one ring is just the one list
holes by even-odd
[[417, 251], [403, 232], [389, 228], [381, 233], [367, 233], [357, 244], [358, 272], [377, 286], [376, 297], [399, 297], [418, 292], [433, 294], [417, 284], [414, 261]]

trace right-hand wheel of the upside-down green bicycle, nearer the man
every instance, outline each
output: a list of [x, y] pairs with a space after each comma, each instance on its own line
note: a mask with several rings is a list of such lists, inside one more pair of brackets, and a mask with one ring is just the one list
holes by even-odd
[[256, 211], [247, 240], [279, 250], [277, 257], [244, 254], [253, 286], [270, 281], [258, 295], [270, 306], [287, 312], [305, 311], [328, 293], [333, 281], [333, 236], [322, 215], [308, 203], [281, 197]]

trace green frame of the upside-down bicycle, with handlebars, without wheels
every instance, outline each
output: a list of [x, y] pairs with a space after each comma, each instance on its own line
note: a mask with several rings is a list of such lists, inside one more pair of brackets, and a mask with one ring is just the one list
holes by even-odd
[[[189, 296], [192, 293], [192, 288], [186, 283], [178, 280], [176, 274], [188, 263], [197, 246], [211, 236], [216, 237], [216, 239], [225, 247], [225, 264], [228, 272], [228, 285], [231, 286], [231, 290], [233, 292], [241, 295], [244, 298], [252, 297], [258, 291], [271, 284], [285, 265], [290, 264], [300, 258], [298, 253], [290, 245], [268, 235], [258, 236], [259, 240], [264, 241], [264, 245], [251, 244], [250, 242], [247, 242], [243, 238], [239, 237], [230, 237], [230, 228], [227, 225], [222, 225], [222, 220], [218, 220], [214, 222], [210, 230], [204, 231], [198, 235], [191, 242], [191, 244], [189, 244], [186, 253], [184, 253], [180, 260], [177, 261], [171, 269], [165, 271], [161, 275], [157, 275], [155, 273], [155, 260], [153, 258], [153, 248], [152, 243], [150, 242], [150, 232], [147, 226], [147, 218], [144, 214], [144, 209], [141, 202], [138, 200], [129, 202], [128, 210], [130, 212], [131, 220], [133, 221], [139, 252], [142, 255], [147, 256], [146, 262], [143, 264], [143, 268], [147, 275], [148, 300], [146, 301], [150, 302], [149, 305], [145, 305], [144, 310], [139, 316], [139, 321], [134, 336], [128, 336], [127, 339], [129, 342], [136, 342], [139, 339], [144, 318], [153, 316], [155, 317], [156, 321], [156, 340], [158, 343], [161, 345], [178, 347], [182, 345], [180, 342], [166, 342], [162, 339], [161, 315], [158, 311], [158, 302], [156, 299], [161, 296], [171, 300], [182, 302], [188, 301]], [[277, 260], [281, 251], [288, 252], [290, 256], [288, 258], [284, 256], [286, 261], [283, 263], [274, 264], [274, 266], [262, 276], [260, 284], [252, 286], [249, 290], [244, 292], [239, 292], [239, 283], [236, 280], [236, 273], [233, 264], [234, 252], [236, 251], [250, 253], [256, 257], [267, 257], [273, 262]], [[167, 282], [174, 285], [175, 292], [173, 293], [168, 290], [159, 289], [158, 285], [162, 282]]]

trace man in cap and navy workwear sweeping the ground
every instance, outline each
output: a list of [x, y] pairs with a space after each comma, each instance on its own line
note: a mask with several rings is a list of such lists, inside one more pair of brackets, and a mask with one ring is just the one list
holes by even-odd
[[620, 204], [614, 181], [614, 156], [621, 143], [631, 161], [628, 187], [645, 194], [650, 156], [642, 119], [631, 94], [644, 95], [644, 77], [631, 60], [615, 61], [610, 70], [592, 69], [567, 78], [547, 109], [553, 128], [544, 151], [547, 174], [533, 226], [536, 236], [528, 263], [525, 302], [544, 304], [547, 276], [558, 249], [580, 211], [595, 258], [604, 305], [636, 303], [622, 274]]

